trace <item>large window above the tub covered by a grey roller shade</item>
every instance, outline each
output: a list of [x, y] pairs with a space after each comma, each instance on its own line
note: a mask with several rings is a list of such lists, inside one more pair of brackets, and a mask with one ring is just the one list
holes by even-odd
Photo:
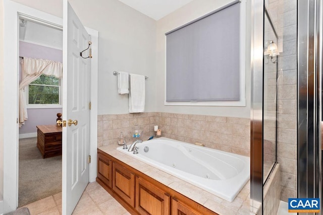
[[165, 105], [245, 106], [245, 2], [166, 33]]

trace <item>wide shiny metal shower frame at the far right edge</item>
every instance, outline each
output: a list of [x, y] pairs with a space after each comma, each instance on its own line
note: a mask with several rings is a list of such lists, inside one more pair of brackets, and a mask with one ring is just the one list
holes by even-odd
[[321, 198], [322, 210], [323, 4], [318, 0], [298, 0], [297, 5], [297, 197]]

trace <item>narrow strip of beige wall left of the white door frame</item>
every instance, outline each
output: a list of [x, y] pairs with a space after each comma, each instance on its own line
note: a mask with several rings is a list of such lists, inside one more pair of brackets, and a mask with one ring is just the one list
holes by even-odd
[[[4, 1], [0, 0], [0, 47], [4, 47]], [[4, 127], [4, 49], [0, 48], [0, 128]], [[4, 193], [4, 130], [0, 129], [0, 201]], [[2, 209], [0, 209], [1, 211]]]

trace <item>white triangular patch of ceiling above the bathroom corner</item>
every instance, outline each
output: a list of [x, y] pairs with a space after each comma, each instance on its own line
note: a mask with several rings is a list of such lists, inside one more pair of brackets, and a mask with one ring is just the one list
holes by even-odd
[[131, 8], [159, 20], [193, 0], [119, 0]]

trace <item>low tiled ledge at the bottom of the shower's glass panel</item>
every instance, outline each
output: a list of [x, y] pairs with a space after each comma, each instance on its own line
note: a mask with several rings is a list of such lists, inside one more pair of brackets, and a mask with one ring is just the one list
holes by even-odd
[[281, 170], [276, 164], [263, 188], [263, 214], [277, 214], [281, 199]]

